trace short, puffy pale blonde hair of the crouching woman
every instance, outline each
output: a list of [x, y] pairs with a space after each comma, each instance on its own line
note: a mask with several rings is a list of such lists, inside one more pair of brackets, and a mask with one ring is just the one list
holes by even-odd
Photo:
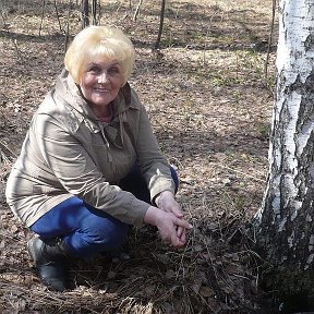
[[64, 64], [74, 82], [80, 84], [87, 64], [99, 58], [104, 61], [119, 61], [126, 83], [134, 67], [135, 50], [122, 31], [96, 25], [84, 28], [70, 45]]

